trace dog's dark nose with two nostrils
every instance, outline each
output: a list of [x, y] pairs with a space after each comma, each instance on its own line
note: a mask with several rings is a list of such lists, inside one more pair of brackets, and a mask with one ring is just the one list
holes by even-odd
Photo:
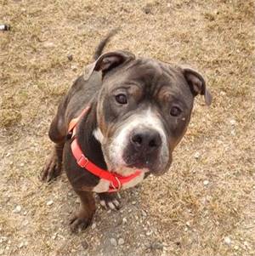
[[131, 135], [131, 143], [136, 151], [150, 153], [161, 146], [161, 135], [154, 129], [135, 131]]

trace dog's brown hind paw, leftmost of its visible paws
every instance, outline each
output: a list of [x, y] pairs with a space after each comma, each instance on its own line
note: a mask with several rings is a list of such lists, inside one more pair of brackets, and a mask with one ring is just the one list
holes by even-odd
[[49, 157], [48, 162], [46, 162], [44, 168], [40, 175], [42, 181], [50, 182], [52, 179], [56, 178], [61, 174], [61, 165], [59, 165], [57, 156]]

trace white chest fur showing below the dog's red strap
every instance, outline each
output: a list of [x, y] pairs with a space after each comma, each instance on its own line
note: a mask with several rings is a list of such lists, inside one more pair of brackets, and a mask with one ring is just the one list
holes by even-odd
[[[126, 190], [128, 188], [131, 188], [135, 185], [138, 185], [143, 179], [144, 179], [144, 172], [141, 172], [141, 174], [139, 174], [135, 178], [131, 179], [130, 181], [128, 181], [126, 183], [124, 183], [122, 185], [121, 191]], [[100, 179], [99, 184], [94, 187], [93, 191], [96, 192], [96, 193], [107, 192], [107, 191], [109, 191], [110, 185], [111, 185], [110, 181], [105, 180], [105, 179]]]

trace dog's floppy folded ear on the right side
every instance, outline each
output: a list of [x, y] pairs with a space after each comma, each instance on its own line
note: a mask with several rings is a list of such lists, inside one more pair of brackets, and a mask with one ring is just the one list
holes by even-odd
[[206, 104], [211, 105], [212, 95], [207, 89], [206, 82], [201, 74], [188, 67], [183, 68], [183, 72], [186, 81], [190, 85], [190, 90], [192, 94], [194, 94], [195, 96], [197, 94], [204, 95]]

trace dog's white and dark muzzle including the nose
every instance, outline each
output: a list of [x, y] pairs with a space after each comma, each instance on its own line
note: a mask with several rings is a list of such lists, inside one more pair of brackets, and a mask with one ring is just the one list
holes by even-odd
[[167, 135], [160, 117], [150, 110], [123, 122], [110, 144], [107, 158], [114, 168], [147, 169], [157, 174], [167, 168]]

